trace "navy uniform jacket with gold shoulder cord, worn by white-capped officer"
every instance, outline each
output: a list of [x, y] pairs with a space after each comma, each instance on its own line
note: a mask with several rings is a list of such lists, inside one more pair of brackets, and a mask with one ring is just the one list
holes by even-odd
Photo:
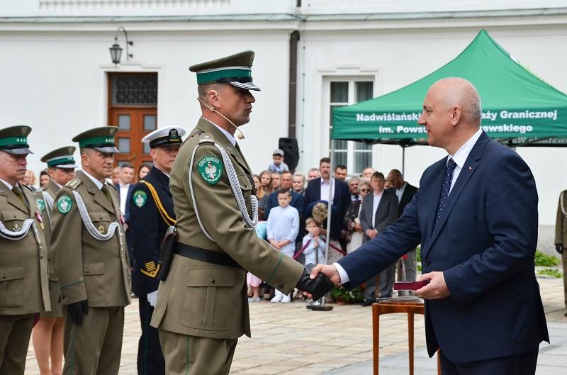
[[139, 297], [146, 297], [147, 293], [157, 291], [159, 247], [162, 245], [167, 228], [175, 224], [169, 177], [156, 167], [152, 167], [143, 181], [153, 186], [162, 208], [158, 208], [152, 191], [142, 181], [134, 186], [132, 194], [128, 197], [130, 199], [128, 231], [132, 235], [135, 258], [133, 290]]

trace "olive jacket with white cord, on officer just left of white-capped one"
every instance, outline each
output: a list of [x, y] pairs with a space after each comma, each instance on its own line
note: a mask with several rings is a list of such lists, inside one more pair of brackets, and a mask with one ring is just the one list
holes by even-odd
[[[130, 267], [118, 193], [113, 186], [108, 187], [112, 203], [84, 172], [78, 172], [77, 178], [63, 186], [55, 198], [50, 248], [60, 281], [62, 305], [85, 299], [89, 307], [130, 303]], [[82, 197], [94, 227], [100, 232], [107, 233], [108, 225], [120, 223], [109, 240], [97, 240], [86, 230], [73, 191]], [[61, 206], [62, 201], [67, 204]]]

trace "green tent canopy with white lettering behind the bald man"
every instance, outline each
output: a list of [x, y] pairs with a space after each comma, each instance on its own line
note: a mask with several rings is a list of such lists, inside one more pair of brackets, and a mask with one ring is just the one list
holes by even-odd
[[481, 127], [509, 146], [567, 145], [567, 95], [529, 72], [485, 30], [447, 65], [377, 98], [335, 108], [332, 138], [371, 143], [425, 145], [417, 125], [427, 89], [447, 77], [463, 77], [481, 94]]

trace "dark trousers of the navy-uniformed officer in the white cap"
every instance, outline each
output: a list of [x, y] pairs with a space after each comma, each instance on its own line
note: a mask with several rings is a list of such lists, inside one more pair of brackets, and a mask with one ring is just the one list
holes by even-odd
[[162, 347], [159, 345], [159, 332], [156, 328], [150, 326], [154, 308], [144, 297], [138, 297], [138, 303], [142, 335], [137, 345], [137, 374], [165, 374], [165, 360]]

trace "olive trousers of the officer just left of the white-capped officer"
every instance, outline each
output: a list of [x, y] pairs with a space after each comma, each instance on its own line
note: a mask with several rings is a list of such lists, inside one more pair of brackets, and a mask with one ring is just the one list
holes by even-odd
[[82, 325], [65, 315], [63, 375], [117, 375], [124, 308], [89, 308]]

